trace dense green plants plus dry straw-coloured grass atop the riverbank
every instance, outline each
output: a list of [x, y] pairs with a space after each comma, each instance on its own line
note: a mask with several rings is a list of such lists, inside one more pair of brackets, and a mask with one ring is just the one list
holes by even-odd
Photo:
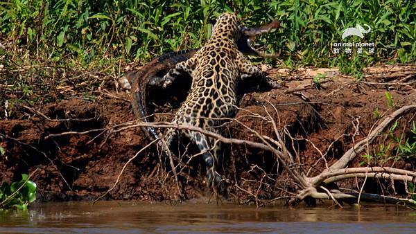
[[[0, 3], [1, 88], [35, 101], [43, 93], [48, 101], [47, 92], [59, 96], [76, 84], [84, 91], [116, 86], [128, 62], [201, 46], [211, 19], [225, 11], [237, 12], [246, 26], [281, 22], [257, 42], [279, 54], [280, 60], [269, 61], [277, 66], [339, 66], [361, 78], [369, 64], [416, 61], [413, 0], [8, 0]], [[370, 33], [341, 39], [356, 24], [369, 25]], [[374, 42], [375, 49], [335, 54], [337, 42]], [[8, 98], [2, 93], [0, 99]]]

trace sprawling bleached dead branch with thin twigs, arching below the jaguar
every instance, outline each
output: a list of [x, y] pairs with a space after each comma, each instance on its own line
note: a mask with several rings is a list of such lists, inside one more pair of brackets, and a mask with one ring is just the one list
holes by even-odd
[[[271, 102], [268, 102], [268, 104], [271, 105], [275, 109], [275, 112], [278, 115], [275, 105], [272, 105]], [[390, 199], [388, 197], [381, 196], [381, 195], [378, 195], [379, 197], [377, 197], [374, 195], [368, 195], [368, 194], [361, 193], [361, 192], [350, 192], [350, 193], [333, 192], [332, 190], [328, 190], [327, 188], [325, 188], [325, 185], [329, 183], [334, 183], [336, 181], [349, 179], [349, 178], [367, 178], [367, 177], [368, 178], [380, 178], [380, 179], [392, 179], [392, 180], [399, 180], [399, 181], [404, 181], [404, 182], [415, 181], [416, 172], [411, 172], [408, 170], [401, 170], [397, 168], [383, 168], [383, 167], [373, 167], [373, 168], [346, 168], [346, 167], [349, 164], [349, 162], [351, 162], [358, 154], [363, 152], [363, 150], [366, 149], [367, 145], [372, 143], [372, 141], [374, 141], [374, 139], [377, 136], [379, 136], [379, 134], [381, 134], [381, 132], [386, 127], [388, 127], [390, 123], [392, 123], [392, 121], [397, 120], [397, 118], [399, 118], [400, 116], [403, 116], [409, 111], [413, 111], [414, 109], [416, 109], [416, 105], [408, 105], [405, 107], [401, 107], [400, 109], [397, 109], [397, 111], [393, 112], [389, 116], [383, 118], [381, 123], [379, 123], [379, 125], [374, 127], [374, 129], [370, 131], [370, 133], [368, 134], [366, 138], [359, 141], [358, 143], [355, 143], [354, 146], [351, 149], [349, 149], [347, 152], [345, 152], [345, 154], [336, 163], [333, 163], [333, 165], [329, 166], [329, 168], [327, 168], [321, 174], [318, 174], [315, 177], [306, 177], [306, 175], [303, 173], [302, 166], [297, 167], [297, 168], [293, 167], [294, 165], [293, 155], [291, 155], [291, 152], [289, 152], [286, 149], [286, 143], [280, 136], [275, 119], [272, 118], [272, 115], [269, 113], [268, 109], [266, 109], [266, 107], [264, 108], [266, 110], [267, 116], [259, 116], [257, 114], [252, 114], [250, 116], [254, 118], [261, 118], [262, 120], [266, 120], [268, 121], [268, 123], [271, 123], [272, 129], [275, 132], [274, 138], [260, 134], [260, 132], [248, 127], [248, 125], [245, 125], [239, 119], [229, 119], [229, 121], [234, 121], [234, 123], [238, 123], [243, 128], [245, 128], [250, 133], [252, 133], [254, 136], [256, 136], [257, 139], [259, 139], [257, 140], [259, 142], [242, 140], [242, 139], [237, 139], [237, 138], [227, 138], [215, 132], [211, 132], [207, 129], [202, 129], [200, 127], [195, 127], [191, 125], [176, 125], [176, 124], [168, 123], [168, 122], [144, 123], [144, 122], [139, 122], [139, 121], [123, 123], [121, 125], [114, 125], [112, 127], [107, 127], [105, 129], [92, 129], [92, 130], [85, 131], [85, 132], [66, 132], [66, 133], [61, 133], [61, 134], [53, 134], [53, 135], [47, 136], [46, 138], [49, 138], [51, 136], [64, 136], [67, 134], [88, 134], [90, 132], [98, 132], [98, 131], [101, 131], [101, 134], [102, 134], [103, 132], [107, 132], [110, 130], [111, 130], [111, 133], [114, 133], [114, 132], [121, 132], [121, 131], [124, 131], [125, 129], [135, 128], [135, 127], [155, 127], [155, 128], [168, 128], [168, 129], [176, 129], [176, 130], [187, 129], [187, 130], [191, 130], [195, 132], [200, 132], [201, 134], [205, 134], [206, 136], [214, 138], [216, 139], [216, 141], [220, 141], [222, 143], [247, 145], [249, 147], [257, 148], [259, 150], [266, 150], [266, 151], [272, 152], [272, 154], [276, 156], [277, 161], [281, 163], [281, 165], [283, 165], [286, 172], [288, 172], [291, 179], [293, 179], [293, 184], [295, 184], [295, 186], [297, 186], [297, 189], [298, 189], [295, 195], [297, 196], [298, 199], [301, 199], [301, 200], [306, 197], [313, 197], [315, 199], [333, 199], [333, 201], [336, 202], [336, 204], [338, 204], [338, 206], [340, 207], [341, 207], [341, 204], [338, 202], [338, 200], [357, 199], [357, 198], [358, 199], [360, 198], [371, 199], [374, 201], [380, 201], [382, 199], [385, 202], [394, 201], [395, 203], [401, 202], [405, 204], [410, 204], [411, 202], [413, 202], [412, 199], [396, 199], [396, 198]], [[357, 123], [355, 125], [353, 121], [353, 125], [354, 127], [356, 127], [356, 132], [358, 132], [359, 122], [358, 120], [356, 120], [356, 122]], [[356, 134], [354, 134], [354, 136], [355, 135]], [[295, 138], [292, 138], [292, 139], [295, 139]], [[151, 144], [155, 143], [155, 141], [152, 141], [150, 144], [146, 145], [139, 152], [137, 152], [135, 156], [129, 159], [127, 163], [125, 163], [125, 165], [123, 166], [123, 169], [119, 173], [119, 176], [117, 177], [116, 182], [114, 183], [112, 188], [107, 190], [107, 192], [105, 192], [104, 195], [98, 197], [98, 199], [101, 199], [102, 197], [107, 195], [109, 192], [111, 192], [115, 188], [116, 184], [119, 182], [121, 174], [125, 170], [125, 167], [128, 165], [128, 163], [130, 163], [133, 159], [135, 159], [137, 155], [140, 152], [142, 152], [146, 147], [149, 147]], [[166, 143], [164, 143], [164, 146], [166, 148]], [[315, 150], [318, 150], [319, 152], [318, 147], [316, 147], [315, 145], [313, 145], [313, 147], [315, 148]], [[327, 155], [327, 152], [328, 150], [325, 152], [325, 154], [322, 154], [322, 152], [320, 152], [321, 157], [324, 158], [324, 156]], [[179, 182], [177, 179], [177, 171], [176, 171], [177, 165], [173, 163], [172, 156], [169, 156], [168, 160], [169, 160], [169, 163], [171, 164], [173, 177], [175, 179], [175, 183], [179, 190], [179, 194], [181, 195], [181, 197], [183, 197], [180, 191], [180, 186], [179, 186]], [[177, 160], [180, 161], [180, 159], [177, 159]], [[187, 166], [188, 163], [185, 163], [185, 164], [182, 163], [182, 165]], [[182, 170], [183, 169], [181, 168], [180, 172], [182, 172]], [[268, 177], [268, 175], [265, 172], [265, 174], [263, 174], [263, 177], [261, 177], [260, 181], [257, 181], [259, 182], [259, 187], [257, 188], [257, 191], [255, 193], [248, 191], [248, 190], [244, 190], [237, 184], [234, 185], [234, 188], [241, 190], [243, 192], [246, 192], [250, 196], [254, 197], [254, 200], [257, 206], [259, 206], [259, 190], [261, 189], [263, 184], [266, 186], [269, 186], [268, 181], [265, 181], [265, 179], [268, 180], [268, 178], [266, 177]], [[318, 192], [318, 189], [320, 190], [320, 192]], [[280, 198], [277, 197], [276, 199], [280, 199]]]

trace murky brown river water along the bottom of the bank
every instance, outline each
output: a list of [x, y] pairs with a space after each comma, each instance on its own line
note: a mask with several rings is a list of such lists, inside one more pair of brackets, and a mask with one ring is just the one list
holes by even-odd
[[416, 211], [76, 201], [0, 211], [0, 233], [416, 233]]

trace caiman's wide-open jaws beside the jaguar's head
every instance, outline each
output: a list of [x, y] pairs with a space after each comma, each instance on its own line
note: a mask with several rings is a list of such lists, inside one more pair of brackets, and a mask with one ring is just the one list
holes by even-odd
[[254, 39], [256, 39], [257, 35], [270, 33], [270, 30], [272, 30], [273, 28], [279, 28], [279, 26], [280, 24], [276, 19], [274, 19], [270, 24], [261, 26], [260, 28], [246, 28], [245, 26], [241, 26], [242, 36], [237, 42], [239, 51], [241, 51], [245, 55], [253, 55], [257, 57], [277, 57], [276, 54], [269, 54], [263, 51], [257, 51], [255, 48], [251, 46], [251, 43]]

